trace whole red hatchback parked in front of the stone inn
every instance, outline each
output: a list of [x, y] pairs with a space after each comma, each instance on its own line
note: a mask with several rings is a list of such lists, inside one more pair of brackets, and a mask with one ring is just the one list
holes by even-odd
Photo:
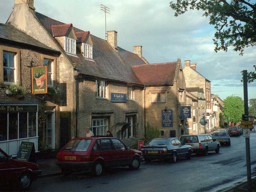
[[57, 165], [64, 175], [73, 171], [90, 171], [95, 176], [106, 167], [129, 166], [138, 169], [141, 151], [130, 149], [114, 137], [81, 137], [72, 139], [57, 154]]

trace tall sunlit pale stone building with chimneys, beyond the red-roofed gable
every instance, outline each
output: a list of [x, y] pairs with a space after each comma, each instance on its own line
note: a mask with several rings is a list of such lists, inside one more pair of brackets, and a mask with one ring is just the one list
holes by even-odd
[[209, 79], [204, 77], [201, 73], [196, 70], [196, 63], [191, 63], [190, 60], [184, 61], [184, 77], [186, 81], [186, 87], [199, 87], [203, 89], [202, 98], [205, 98], [205, 115], [207, 116], [207, 132], [211, 131], [213, 127], [211, 127], [211, 115], [212, 115], [212, 104], [211, 104], [211, 82]]

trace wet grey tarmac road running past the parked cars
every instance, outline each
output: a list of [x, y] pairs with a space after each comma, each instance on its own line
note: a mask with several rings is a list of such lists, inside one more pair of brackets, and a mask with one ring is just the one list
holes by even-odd
[[[256, 165], [256, 132], [251, 132], [252, 173]], [[39, 178], [30, 191], [216, 191], [222, 184], [246, 176], [245, 138], [231, 137], [220, 153], [193, 155], [176, 163], [142, 163], [140, 169], [110, 169], [101, 177], [86, 173]]]

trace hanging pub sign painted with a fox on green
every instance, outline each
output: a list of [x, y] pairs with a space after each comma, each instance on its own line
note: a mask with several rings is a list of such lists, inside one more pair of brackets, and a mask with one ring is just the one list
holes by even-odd
[[32, 67], [32, 94], [44, 94], [47, 93], [47, 67]]

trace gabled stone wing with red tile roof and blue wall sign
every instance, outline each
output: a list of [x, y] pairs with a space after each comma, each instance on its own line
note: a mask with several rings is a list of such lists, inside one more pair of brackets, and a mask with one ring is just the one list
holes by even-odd
[[[186, 119], [181, 118], [181, 106], [186, 104], [186, 94], [181, 60], [136, 65], [132, 69], [145, 86], [146, 122], [158, 128], [163, 137], [184, 134]], [[167, 123], [163, 122], [165, 114], [170, 120]]]

